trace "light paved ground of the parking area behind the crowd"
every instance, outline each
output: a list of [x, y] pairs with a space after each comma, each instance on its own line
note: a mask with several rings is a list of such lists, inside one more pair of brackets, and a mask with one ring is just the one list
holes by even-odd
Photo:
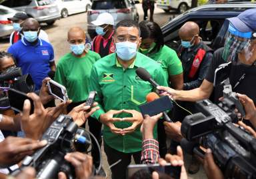
[[[140, 18], [139, 20], [143, 20], [143, 11], [141, 8], [141, 4], [137, 5], [137, 9], [139, 11]], [[171, 13], [165, 13], [161, 9], [155, 9], [155, 15], [154, 19], [155, 22], [157, 22], [159, 25], [165, 24], [167, 21], [169, 21], [170, 18], [173, 18], [175, 16], [174, 12]], [[42, 29], [44, 29], [47, 34], [49, 35], [49, 40], [51, 41], [51, 44], [54, 47], [55, 51], [55, 61], [57, 62], [61, 56], [63, 56], [65, 53], [69, 51], [69, 44], [67, 43], [67, 31], [70, 27], [73, 26], [79, 26], [87, 30], [87, 15], [86, 13], [81, 13], [78, 15], [72, 15], [70, 17], [67, 17], [66, 19], [60, 19], [59, 21], [56, 21], [56, 23], [51, 26], [47, 27], [46, 25], [42, 25]], [[9, 39], [0, 39], [0, 51], [6, 51], [9, 47]], [[103, 150], [102, 150], [103, 151]], [[186, 156], [186, 161], [189, 161], [189, 156]], [[186, 165], [188, 162], [186, 162]], [[105, 168], [107, 172], [108, 178], [111, 178], [111, 172], [109, 170], [109, 166], [107, 164], [107, 158], [105, 156], [105, 153], [103, 152], [103, 167]], [[189, 176], [189, 178], [206, 178], [205, 174], [202, 170], [198, 172], [195, 175]]]

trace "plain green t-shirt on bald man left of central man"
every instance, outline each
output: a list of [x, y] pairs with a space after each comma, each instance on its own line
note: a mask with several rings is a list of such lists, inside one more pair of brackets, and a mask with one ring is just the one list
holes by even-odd
[[67, 95], [73, 102], [86, 100], [89, 94], [89, 79], [93, 64], [101, 59], [99, 54], [88, 51], [81, 58], [67, 53], [59, 60], [55, 81], [66, 87]]

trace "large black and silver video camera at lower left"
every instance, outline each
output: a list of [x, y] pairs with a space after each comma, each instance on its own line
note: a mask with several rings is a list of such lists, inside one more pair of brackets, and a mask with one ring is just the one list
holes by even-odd
[[87, 152], [91, 146], [89, 134], [78, 128], [70, 116], [60, 115], [43, 134], [42, 140], [47, 140], [47, 146], [37, 150], [32, 156], [26, 156], [19, 170], [15, 170], [12, 175], [32, 166], [39, 179], [58, 178], [59, 172], [65, 172], [69, 179], [76, 178], [75, 169], [64, 156], [67, 152]]

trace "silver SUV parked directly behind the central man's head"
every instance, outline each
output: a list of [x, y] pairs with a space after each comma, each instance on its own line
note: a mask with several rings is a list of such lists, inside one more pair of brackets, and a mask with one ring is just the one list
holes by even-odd
[[139, 21], [139, 13], [137, 12], [135, 3], [139, 3], [139, 1], [94, 0], [91, 5], [91, 9], [87, 12], [87, 31], [91, 39], [96, 35], [96, 27], [91, 23], [91, 21], [95, 21], [100, 13], [111, 13], [114, 18], [115, 25], [124, 19]]

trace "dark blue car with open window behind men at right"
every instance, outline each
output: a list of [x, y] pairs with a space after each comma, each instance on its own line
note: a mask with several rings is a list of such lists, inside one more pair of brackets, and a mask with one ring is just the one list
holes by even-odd
[[165, 44], [177, 51], [181, 41], [179, 39], [179, 29], [187, 21], [194, 21], [199, 25], [200, 34], [203, 41], [212, 49], [223, 47], [225, 34], [230, 17], [236, 17], [246, 9], [256, 8], [256, 3], [227, 3], [212, 4], [195, 7], [178, 15], [166, 25], [161, 27]]

